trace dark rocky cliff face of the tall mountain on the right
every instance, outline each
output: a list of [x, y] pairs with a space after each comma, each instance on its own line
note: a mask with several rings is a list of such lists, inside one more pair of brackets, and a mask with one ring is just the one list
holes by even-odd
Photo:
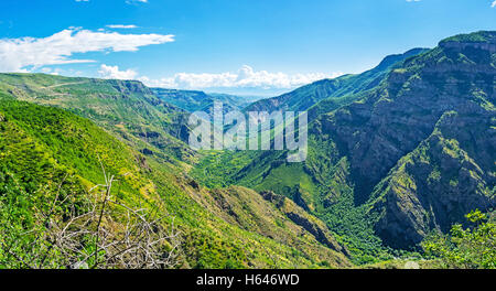
[[312, 129], [348, 158], [355, 203], [374, 204], [389, 245], [412, 246], [494, 206], [495, 60], [492, 42], [442, 42]]

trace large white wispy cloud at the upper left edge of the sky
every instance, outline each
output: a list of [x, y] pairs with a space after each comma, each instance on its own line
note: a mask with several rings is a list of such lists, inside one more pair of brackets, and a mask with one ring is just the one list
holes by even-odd
[[3, 39], [0, 40], [0, 72], [21, 72], [31, 66], [89, 63], [94, 61], [72, 56], [88, 52], [136, 52], [140, 46], [173, 41], [172, 34], [120, 34], [78, 28], [69, 28], [42, 39]]

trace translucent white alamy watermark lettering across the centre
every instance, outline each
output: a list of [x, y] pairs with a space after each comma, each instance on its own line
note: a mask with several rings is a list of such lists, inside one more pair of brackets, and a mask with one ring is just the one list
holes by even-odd
[[215, 103], [212, 116], [204, 111], [194, 112], [190, 116], [188, 125], [193, 128], [190, 133], [190, 147], [193, 150], [287, 150], [288, 162], [306, 160], [305, 111], [298, 115], [293, 111], [224, 114], [223, 104]]

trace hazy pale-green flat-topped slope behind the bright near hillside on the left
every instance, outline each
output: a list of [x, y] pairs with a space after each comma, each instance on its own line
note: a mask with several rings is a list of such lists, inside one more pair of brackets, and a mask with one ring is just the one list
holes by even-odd
[[186, 112], [160, 100], [140, 82], [0, 74], [1, 96], [71, 110], [165, 162], [194, 157], [183, 142], [188, 138]]

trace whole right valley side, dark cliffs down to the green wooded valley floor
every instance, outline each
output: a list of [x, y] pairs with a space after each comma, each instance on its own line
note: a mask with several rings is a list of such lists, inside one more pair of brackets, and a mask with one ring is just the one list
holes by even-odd
[[381, 245], [413, 248], [432, 229], [495, 206], [495, 36], [444, 40], [316, 114], [304, 164], [285, 163], [284, 152], [225, 153], [193, 174], [218, 186], [212, 177], [223, 173], [228, 184], [293, 198], [346, 237], [360, 261]]

